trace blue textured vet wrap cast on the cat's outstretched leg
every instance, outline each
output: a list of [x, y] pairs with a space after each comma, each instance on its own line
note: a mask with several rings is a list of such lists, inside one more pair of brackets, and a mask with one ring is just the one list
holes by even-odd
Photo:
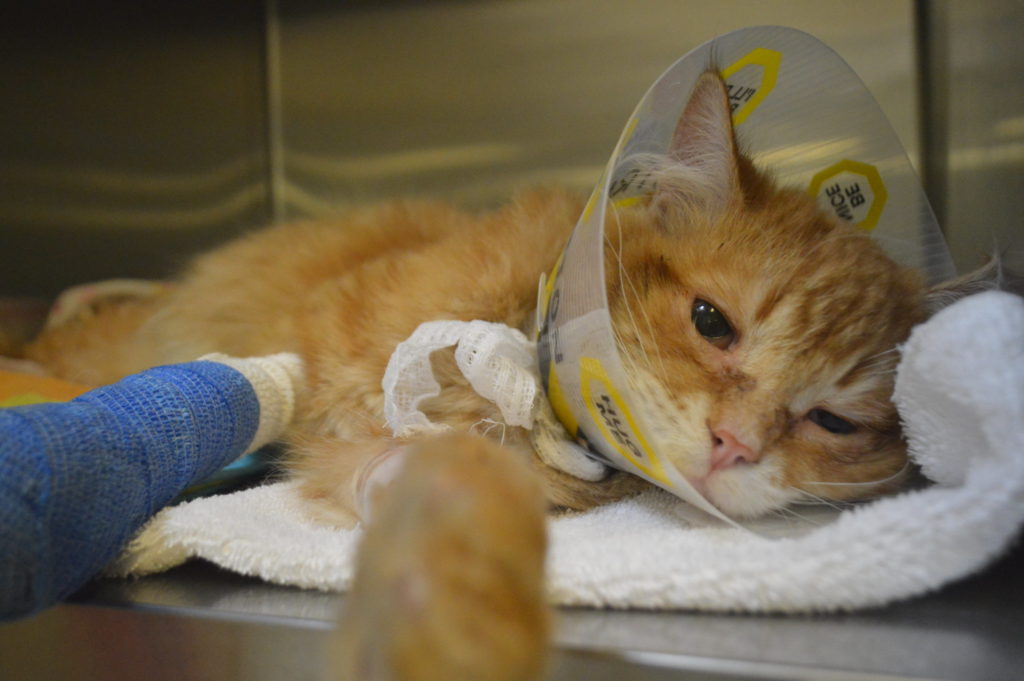
[[258, 425], [252, 385], [214, 361], [0, 410], [0, 619], [73, 593], [151, 515], [245, 454]]

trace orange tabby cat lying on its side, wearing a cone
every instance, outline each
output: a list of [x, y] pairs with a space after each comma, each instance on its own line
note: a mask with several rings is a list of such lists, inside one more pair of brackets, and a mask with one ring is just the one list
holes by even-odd
[[[852, 500], [896, 486], [906, 453], [890, 401], [894, 347], [925, 317], [920, 276], [821, 212], [804, 193], [778, 188], [755, 169], [737, 152], [717, 75], [698, 80], [670, 154], [646, 162], [656, 189], [640, 205], [609, 210], [606, 272], [621, 351], [658, 449], [712, 503], [735, 516], [808, 497]], [[480, 473], [473, 482], [476, 474], [445, 472], [449, 464], [436, 452], [461, 457], [471, 462], [466, 470], [479, 471], [472, 462], [501, 458], [494, 445], [465, 436], [420, 443], [390, 439], [383, 427], [381, 378], [392, 350], [422, 322], [486, 320], [530, 332], [538, 276], [551, 269], [581, 207], [567, 194], [539, 191], [484, 215], [400, 203], [335, 221], [270, 228], [201, 257], [163, 297], [128, 305], [113, 301], [51, 330], [28, 356], [62, 377], [103, 383], [214, 351], [298, 352], [307, 373], [287, 437], [290, 471], [326, 514], [345, 509], [365, 515], [378, 502], [382, 509], [360, 563], [362, 588], [382, 599], [391, 593], [395, 607], [407, 613], [421, 612], [430, 584], [439, 593], [455, 593], [442, 573], [456, 574], [452, 579], [462, 584], [458, 570], [472, 571], [468, 566], [482, 560], [490, 577], [470, 580], [476, 586], [466, 587], [469, 611], [535, 625], [499, 626], [496, 631], [513, 632], [507, 640], [480, 634], [438, 643], [435, 637], [438, 649], [447, 651], [447, 657], [440, 655], [446, 663], [418, 644], [375, 647], [383, 645], [381, 637], [367, 642], [348, 629], [346, 649], [361, 650], [348, 658], [362, 661], [351, 663], [362, 666], [350, 669], [349, 678], [371, 678], [368, 670], [381, 665], [404, 665], [404, 675], [396, 678], [529, 678], [537, 671], [529, 665], [493, 677], [471, 666], [474, 655], [486, 656], [490, 648], [499, 650], [496, 669], [515, 650], [538, 658], [542, 649], [536, 639], [545, 631], [539, 624], [543, 605], [534, 597], [537, 583], [521, 589], [529, 597], [503, 591], [506, 578], [522, 565], [516, 567], [515, 556], [502, 554], [501, 546], [520, 540], [479, 551], [465, 547], [477, 541], [475, 535], [511, 533], [532, 547], [522, 555], [536, 562], [543, 555], [542, 521], [528, 520], [527, 513], [523, 526], [506, 526], [500, 514], [477, 505], [490, 497], [481, 493], [466, 502], [470, 515], [462, 520], [424, 523], [424, 517], [443, 515], [438, 505], [446, 495], [437, 490], [460, 484], [519, 499], [504, 502], [517, 512], [529, 502], [521, 487], [509, 492], [518, 484], [514, 475]], [[442, 391], [423, 406], [431, 420], [462, 432], [484, 419], [501, 420], [497, 408], [461, 377], [451, 352], [436, 353], [434, 369]], [[646, 484], [623, 473], [598, 482], [575, 479], [531, 457], [522, 429], [497, 431], [504, 456], [528, 458], [554, 504], [586, 508]], [[438, 463], [416, 468], [427, 460]], [[392, 497], [402, 497], [390, 502], [385, 483], [398, 467], [388, 461], [409, 462], [392, 485]], [[413, 500], [417, 483], [410, 476], [439, 486]], [[530, 482], [522, 484], [528, 488]], [[399, 539], [410, 531], [434, 533], [436, 542], [423, 542], [422, 554], [416, 554], [409, 546], [414, 542]], [[463, 549], [443, 548], [452, 542]], [[488, 562], [481, 555], [498, 557]], [[424, 567], [417, 573], [429, 576], [374, 580], [399, 558], [419, 560]], [[354, 602], [366, 608], [366, 598]], [[451, 616], [472, 633], [460, 620], [465, 612]], [[517, 643], [496, 647], [503, 640]]]

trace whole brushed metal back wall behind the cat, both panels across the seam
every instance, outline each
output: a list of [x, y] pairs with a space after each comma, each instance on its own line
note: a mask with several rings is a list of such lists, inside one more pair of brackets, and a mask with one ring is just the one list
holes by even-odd
[[0, 295], [164, 276], [350, 203], [589, 189], [653, 79], [753, 24], [833, 45], [913, 147], [910, 22], [908, 0], [22, 3], [0, 25]]

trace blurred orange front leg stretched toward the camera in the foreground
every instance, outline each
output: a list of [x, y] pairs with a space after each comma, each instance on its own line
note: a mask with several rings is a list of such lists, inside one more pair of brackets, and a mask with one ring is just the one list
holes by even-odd
[[541, 678], [545, 501], [527, 457], [466, 434], [388, 446], [355, 478], [371, 519], [331, 678]]

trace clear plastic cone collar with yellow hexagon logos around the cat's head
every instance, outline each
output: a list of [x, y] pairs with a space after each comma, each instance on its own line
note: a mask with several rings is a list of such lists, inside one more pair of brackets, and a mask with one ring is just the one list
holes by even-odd
[[[541, 279], [538, 357], [558, 419], [594, 459], [639, 475], [732, 523], [671, 464], [633, 409], [615, 348], [604, 279], [609, 202], [651, 189], [631, 159], [666, 154], [693, 86], [721, 65], [733, 127], [755, 164], [876, 238], [930, 282], [954, 274], [931, 207], [899, 139], [867, 88], [817, 39], [754, 27], [674, 63], [640, 100], [554, 270]], [[734, 523], [733, 523], [734, 524]]]

